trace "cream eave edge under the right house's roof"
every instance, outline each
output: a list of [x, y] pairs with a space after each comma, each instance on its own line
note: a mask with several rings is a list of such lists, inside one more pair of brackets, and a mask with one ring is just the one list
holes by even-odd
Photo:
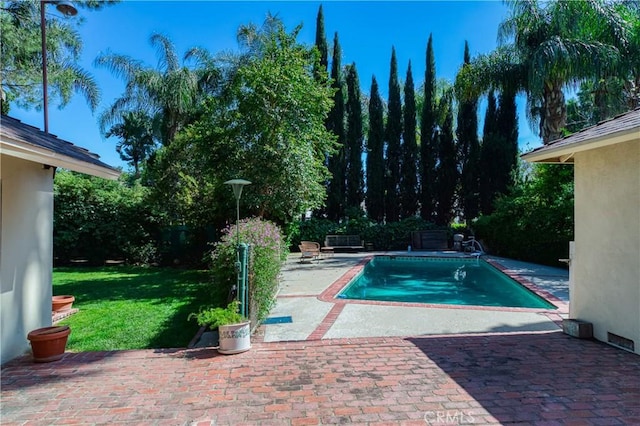
[[599, 136], [593, 139], [586, 139], [580, 142], [564, 144], [554, 147], [553, 145], [540, 148], [535, 151], [523, 154], [521, 158], [530, 163], [573, 163], [576, 153], [603, 148], [623, 142], [630, 142], [640, 138], [640, 129], [637, 127], [625, 129], [608, 135]]

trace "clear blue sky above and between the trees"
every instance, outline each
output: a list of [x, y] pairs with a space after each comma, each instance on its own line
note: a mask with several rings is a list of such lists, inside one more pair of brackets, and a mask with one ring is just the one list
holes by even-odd
[[[101, 52], [129, 55], [150, 66], [157, 57], [149, 44], [154, 32], [167, 35], [180, 56], [190, 47], [201, 46], [212, 53], [237, 50], [236, 31], [240, 25], [262, 24], [268, 12], [283, 20], [288, 30], [303, 24], [298, 40], [313, 45], [318, 6], [323, 4], [327, 42], [331, 48], [338, 32], [342, 63], [356, 63], [364, 92], [375, 74], [384, 98], [387, 96], [391, 47], [395, 46], [398, 72], [402, 80], [411, 60], [416, 86], [424, 81], [425, 54], [429, 34], [433, 34], [438, 78], [453, 81], [462, 63], [465, 40], [471, 55], [488, 53], [496, 47], [498, 24], [508, 9], [498, 1], [431, 2], [214, 2], [214, 1], [130, 1], [125, 0], [100, 11], [80, 9], [84, 23], [80, 34], [84, 48], [80, 65], [95, 78], [102, 98], [92, 113], [84, 98], [74, 96], [64, 109], [49, 106], [49, 131], [100, 155], [113, 166], [127, 168], [115, 150], [117, 140], [105, 139], [98, 129], [98, 113], [123, 91], [123, 83], [93, 61]], [[49, 15], [57, 13], [48, 6]], [[75, 18], [74, 18], [75, 19]], [[479, 118], [484, 114], [483, 104]], [[539, 146], [540, 138], [530, 129], [524, 101], [518, 101], [521, 149]], [[42, 128], [42, 111], [12, 108], [12, 116]]]

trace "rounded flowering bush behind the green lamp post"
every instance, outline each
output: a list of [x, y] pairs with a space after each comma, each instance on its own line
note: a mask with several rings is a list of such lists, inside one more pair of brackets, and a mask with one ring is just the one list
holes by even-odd
[[[280, 228], [274, 223], [259, 218], [241, 220], [240, 242], [250, 245], [249, 255], [249, 314], [253, 324], [269, 314], [278, 291], [278, 275], [287, 250], [283, 247]], [[235, 270], [238, 235], [236, 226], [230, 225], [222, 231], [211, 254], [211, 271], [215, 290], [231, 290], [237, 282]]]

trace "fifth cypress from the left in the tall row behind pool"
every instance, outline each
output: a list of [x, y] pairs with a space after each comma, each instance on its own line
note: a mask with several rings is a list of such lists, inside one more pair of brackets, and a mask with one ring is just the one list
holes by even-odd
[[387, 142], [386, 180], [385, 180], [385, 217], [387, 222], [397, 222], [400, 217], [398, 191], [400, 188], [402, 138], [402, 101], [400, 83], [398, 83], [398, 62], [396, 49], [391, 48], [391, 66], [389, 72], [389, 103], [385, 139]]

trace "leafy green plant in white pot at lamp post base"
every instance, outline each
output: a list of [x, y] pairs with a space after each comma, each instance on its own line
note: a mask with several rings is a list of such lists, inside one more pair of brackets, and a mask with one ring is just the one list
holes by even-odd
[[203, 309], [191, 313], [198, 325], [218, 328], [218, 352], [225, 355], [237, 354], [251, 349], [251, 322], [239, 312], [240, 302], [234, 300], [226, 308]]

